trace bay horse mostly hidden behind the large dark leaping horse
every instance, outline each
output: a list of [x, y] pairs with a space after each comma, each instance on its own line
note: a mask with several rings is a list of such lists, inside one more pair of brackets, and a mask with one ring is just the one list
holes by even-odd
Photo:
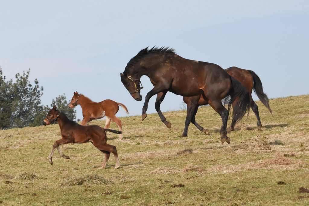
[[[233, 78], [237, 79], [248, 90], [249, 95], [250, 95], [250, 107], [251, 107], [252, 111], [254, 112], [256, 119], [257, 119], [257, 129], [261, 130], [262, 124], [261, 124], [261, 120], [260, 120], [259, 110], [258, 110], [256, 103], [252, 99], [252, 90], [254, 90], [254, 92], [256, 93], [258, 98], [260, 99], [260, 101], [265, 105], [265, 107], [270, 111], [270, 113], [272, 114], [273, 112], [270, 109], [269, 99], [263, 91], [262, 82], [261, 82], [259, 76], [256, 75], [255, 72], [253, 72], [251, 70], [240, 69], [240, 68], [235, 67], [235, 66], [227, 68], [227, 69], [225, 69], [225, 71], [228, 74], [230, 74]], [[163, 92], [158, 93], [157, 99], [160, 99], [161, 95], [163, 95]], [[186, 118], [186, 123], [185, 123], [185, 127], [186, 127], [185, 131], [188, 130], [188, 126], [190, 124], [189, 120], [191, 120], [191, 123], [194, 124], [200, 131], [208, 134], [209, 130], [204, 129], [203, 127], [201, 127], [195, 121], [195, 115], [197, 113], [198, 106], [207, 105], [208, 101], [206, 101], [203, 98], [202, 95], [197, 95], [197, 96], [193, 96], [193, 97], [183, 97], [183, 99], [184, 99], [184, 103], [187, 104], [187, 118]], [[232, 107], [234, 107], [234, 103], [232, 104]], [[192, 110], [193, 110], [193, 112], [192, 112]], [[158, 111], [159, 116], [163, 116], [160, 108], [158, 108], [157, 111]], [[189, 115], [191, 115], [191, 116], [189, 116]], [[167, 126], [167, 128], [171, 128], [171, 124], [169, 122], [167, 122], [165, 117], [163, 119], [163, 123]], [[234, 119], [234, 121], [231, 122], [231, 127], [228, 129], [227, 132], [233, 131], [235, 124], [236, 124], [236, 120]]]

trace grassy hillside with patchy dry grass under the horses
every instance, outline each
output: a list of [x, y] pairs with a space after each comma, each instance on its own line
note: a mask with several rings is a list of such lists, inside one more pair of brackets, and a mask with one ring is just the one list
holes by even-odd
[[91, 143], [61, 146], [70, 159], [56, 150], [51, 166], [57, 124], [0, 131], [0, 205], [308, 205], [309, 95], [271, 99], [273, 115], [257, 103], [264, 131], [250, 111], [230, 145], [221, 144], [222, 121], [210, 107], [196, 116], [210, 135], [191, 124], [180, 137], [186, 111], [164, 113], [171, 130], [157, 114], [121, 118], [124, 139], [107, 133], [119, 169], [111, 154], [98, 170], [104, 155]]

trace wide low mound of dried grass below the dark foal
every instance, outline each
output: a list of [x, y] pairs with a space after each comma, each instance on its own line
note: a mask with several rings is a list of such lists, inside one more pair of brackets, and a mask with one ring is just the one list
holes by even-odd
[[60, 183], [60, 185], [61, 186], [75, 186], [83, 184], [102, 185], [109, 183], [111, 183], [111, 181], [106, 180], [97, 174], [90, 174], [90, 175], [75, 176], [68, 178], [64, 182]]

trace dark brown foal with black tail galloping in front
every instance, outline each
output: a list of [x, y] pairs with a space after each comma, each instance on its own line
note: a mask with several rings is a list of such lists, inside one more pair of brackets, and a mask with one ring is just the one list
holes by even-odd
[[80, 124], [77, 124], [76, 122], [69, 120], [65, 114], [57, 110], [56, 106], [53, 106], [53, 109], [51, 109], [46, 118], [43, 120], [43, 124], [49, 125], [53, 122], [57, 121], [60, 127], [61, 132], [61, 139], [55, 141], [52, 151], [50, 152], [48, 159], [49, 163], [53, 165], [53, 153], [54, 150], [57, 149], [60, 156], [66, 159], [70, 159], [69, 156], [66, 156], [62, 153], [60, 149], [60, 145], [68, 144], [68, 143], [86, 143], [91, 142], [96, 148], [98, 148], [101, 152], [105, 155], [105, 160], [99, 169], [104, 169], [106, 166], [106, 162], [108, 161], [109, 155], [111, 153], [114, 154], [116, 165], [115, 168], [120, 167], [119, 158], [117, 154], [117, 149], [113, 145], [109, 145], [106, 143], [106, 133], [108, 132], [114, 132], [116, 134], [120, 134], [121, 131], [111, 130], [111, 129], [103, 129], [99, 127], [98, 125], [88, 125], [83, 126]]

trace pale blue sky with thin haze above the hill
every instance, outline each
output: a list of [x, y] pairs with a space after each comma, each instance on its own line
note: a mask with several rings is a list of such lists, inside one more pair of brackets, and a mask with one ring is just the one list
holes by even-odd
[[[0, 1], [0, 19], [4, 75], [30, 68], [44, 87], [44, 105], [77, 90], [141, 115], [144, 99], [129, 95], [119, 72], [155, 45], [224, 69], [251, 69], [270, 98], [309, 93], [309, 1]], [[145, 97], [152, 85], [141, 80]], [[156, 112], [154, 101], [147, 113]], [[169, 93], [161, 109], [179, 110], [181, 103]], [[82, 119], [79, 106], [77, 115]]]

